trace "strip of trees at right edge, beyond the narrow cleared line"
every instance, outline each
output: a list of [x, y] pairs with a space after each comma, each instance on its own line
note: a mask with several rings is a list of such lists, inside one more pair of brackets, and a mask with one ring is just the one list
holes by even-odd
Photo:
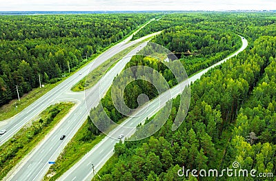
[[[268, 42], [263, 43], [275, 42], [272, 38], [264, 39]], [[256, 169], [258, 173], [275, 173], [276, 170], [276, 60], [275, 54], [272, 56], [263, 78], [240, 109], [226, 162], [237, 160], [243, 169]]]

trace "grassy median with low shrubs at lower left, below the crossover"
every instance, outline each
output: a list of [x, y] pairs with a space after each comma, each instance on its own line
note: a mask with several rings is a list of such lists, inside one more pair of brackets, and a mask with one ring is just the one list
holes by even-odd
[[0, 180], [68, 114], [74, 103], [51, 105], [0, 147]]

